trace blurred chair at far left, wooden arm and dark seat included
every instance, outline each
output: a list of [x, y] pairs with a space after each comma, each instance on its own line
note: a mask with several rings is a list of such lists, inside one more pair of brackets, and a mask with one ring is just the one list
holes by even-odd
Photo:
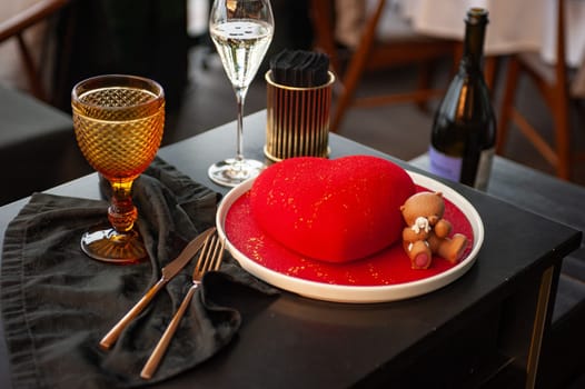
[[0, 44], [17, 43], [13, 62], [24, 73], [22, 86], [9, 80], [0, 86], [1, 205], [91, 172], [77, 147], [71, 116], [48, 103], [54, 59], [50, 39], [68, 4], [24, 1], [0, 22]]

